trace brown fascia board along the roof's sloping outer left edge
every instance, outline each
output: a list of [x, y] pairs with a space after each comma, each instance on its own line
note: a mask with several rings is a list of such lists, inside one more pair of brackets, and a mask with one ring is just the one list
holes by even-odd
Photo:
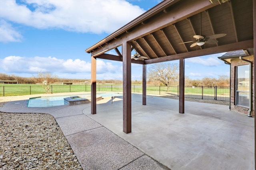
[[95, 48], [99, 47], [100, 45], [106, 43], [110, 39], [113, 39], [113, 38], [117, 37], [118, 35], [124, 33], [128, 29], [131, 29], [135, 25], [138, 25], [138, 24], [142, 23], [143, 21], [147, 20], [148, 18], [154, 16], [158, 12], [164, 10], [165, 8], [168, 8], [169, 6], [175, 4], [178, 1], [180, 1], [180, 0], [164, 0], [164, 1], [160, 2], [156, 6], [154, 6], [153, 8], [148, 10], [147, 12], [145, 12], [144, 14], [138, 16], [137, 18], [135, 18], [134, 20], [130, 21], [129, 23], [127, 23], [126, 25], [124, 25], [123, 27], [121, 27], [120, 29], [115, 31], [114, 33], [108, 35], [108, 37], [106, 37], [103, 40], [99, 41], [98, 43], [96, 43], [92, 47], [86, 49], [86, 52], [88, 53], [88, 52], [92, 51], [93, 49], [95, 49]]

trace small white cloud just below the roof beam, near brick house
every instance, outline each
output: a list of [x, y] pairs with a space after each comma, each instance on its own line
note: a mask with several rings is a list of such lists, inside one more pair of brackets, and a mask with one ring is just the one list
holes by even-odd
[[222, 64], [220, 59], [218, 59], [217, 57], [208, 57], [208, 58], [193, 57], [193, 58], [186, 59], [186, 62], [198, 63], [198, 64], [202, 64], [204, 66], [217, 66], [217, 65]]

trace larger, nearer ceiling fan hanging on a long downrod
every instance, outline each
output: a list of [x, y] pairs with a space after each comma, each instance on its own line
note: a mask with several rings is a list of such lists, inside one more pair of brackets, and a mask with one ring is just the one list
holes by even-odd
[[201, 13], [200, 13], [200, 35], [194, 35], [193, 36], [196, 40], [194, 40], [194, 41], [186, 41], [186, 42], [179, 43], [179, 44], [192, 43], [190, 45], [190, 47], [194, 47], [196, 45], [202, 46], [205, 43], [215, 44], [215, 43], [218, 43], [218, 41], [216, 40], [217, 38], [224, 37], [225, 35], [227, 35], [225, 33], [209, 35], [207, 37], [205, 35], [202, 35], [201, 34], [201, 22], [202, 22], [201, 20], [202, 20], [202, 18], [201, 18]]

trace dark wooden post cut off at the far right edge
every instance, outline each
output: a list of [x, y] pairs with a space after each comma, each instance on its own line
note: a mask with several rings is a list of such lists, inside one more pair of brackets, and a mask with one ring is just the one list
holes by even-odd
[[[256, 1], [254, 0], [252, 2], [252, 15], [253, 15], [253, 48], [254, 48], [254, 62], [256, 61]], [[254, 63], [255, 64], [255, 63]], [[254, 65], [254, 75], [253, 75], [253, 79], [254, 79], [254, 93], [253, 93], [253, 97], [254, 97], [254, 101], [253, 101], [253, 114], [254, 114], [254, 153], [256, 153], [256, 119], [255, 119], [255, 106], [256, 106], [256, 66]], [[254, 154], [254, 162], [255, 162], [255, 167], [256, 167], [256, 154]]]

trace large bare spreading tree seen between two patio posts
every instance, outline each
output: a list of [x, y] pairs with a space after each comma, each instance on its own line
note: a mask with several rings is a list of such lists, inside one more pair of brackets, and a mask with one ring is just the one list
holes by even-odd
[[160, 81], [164, 86], [177, 85], [179, 80], [179, 66], [176, 63], [157, 63], [148, 68], [149, 81]]

